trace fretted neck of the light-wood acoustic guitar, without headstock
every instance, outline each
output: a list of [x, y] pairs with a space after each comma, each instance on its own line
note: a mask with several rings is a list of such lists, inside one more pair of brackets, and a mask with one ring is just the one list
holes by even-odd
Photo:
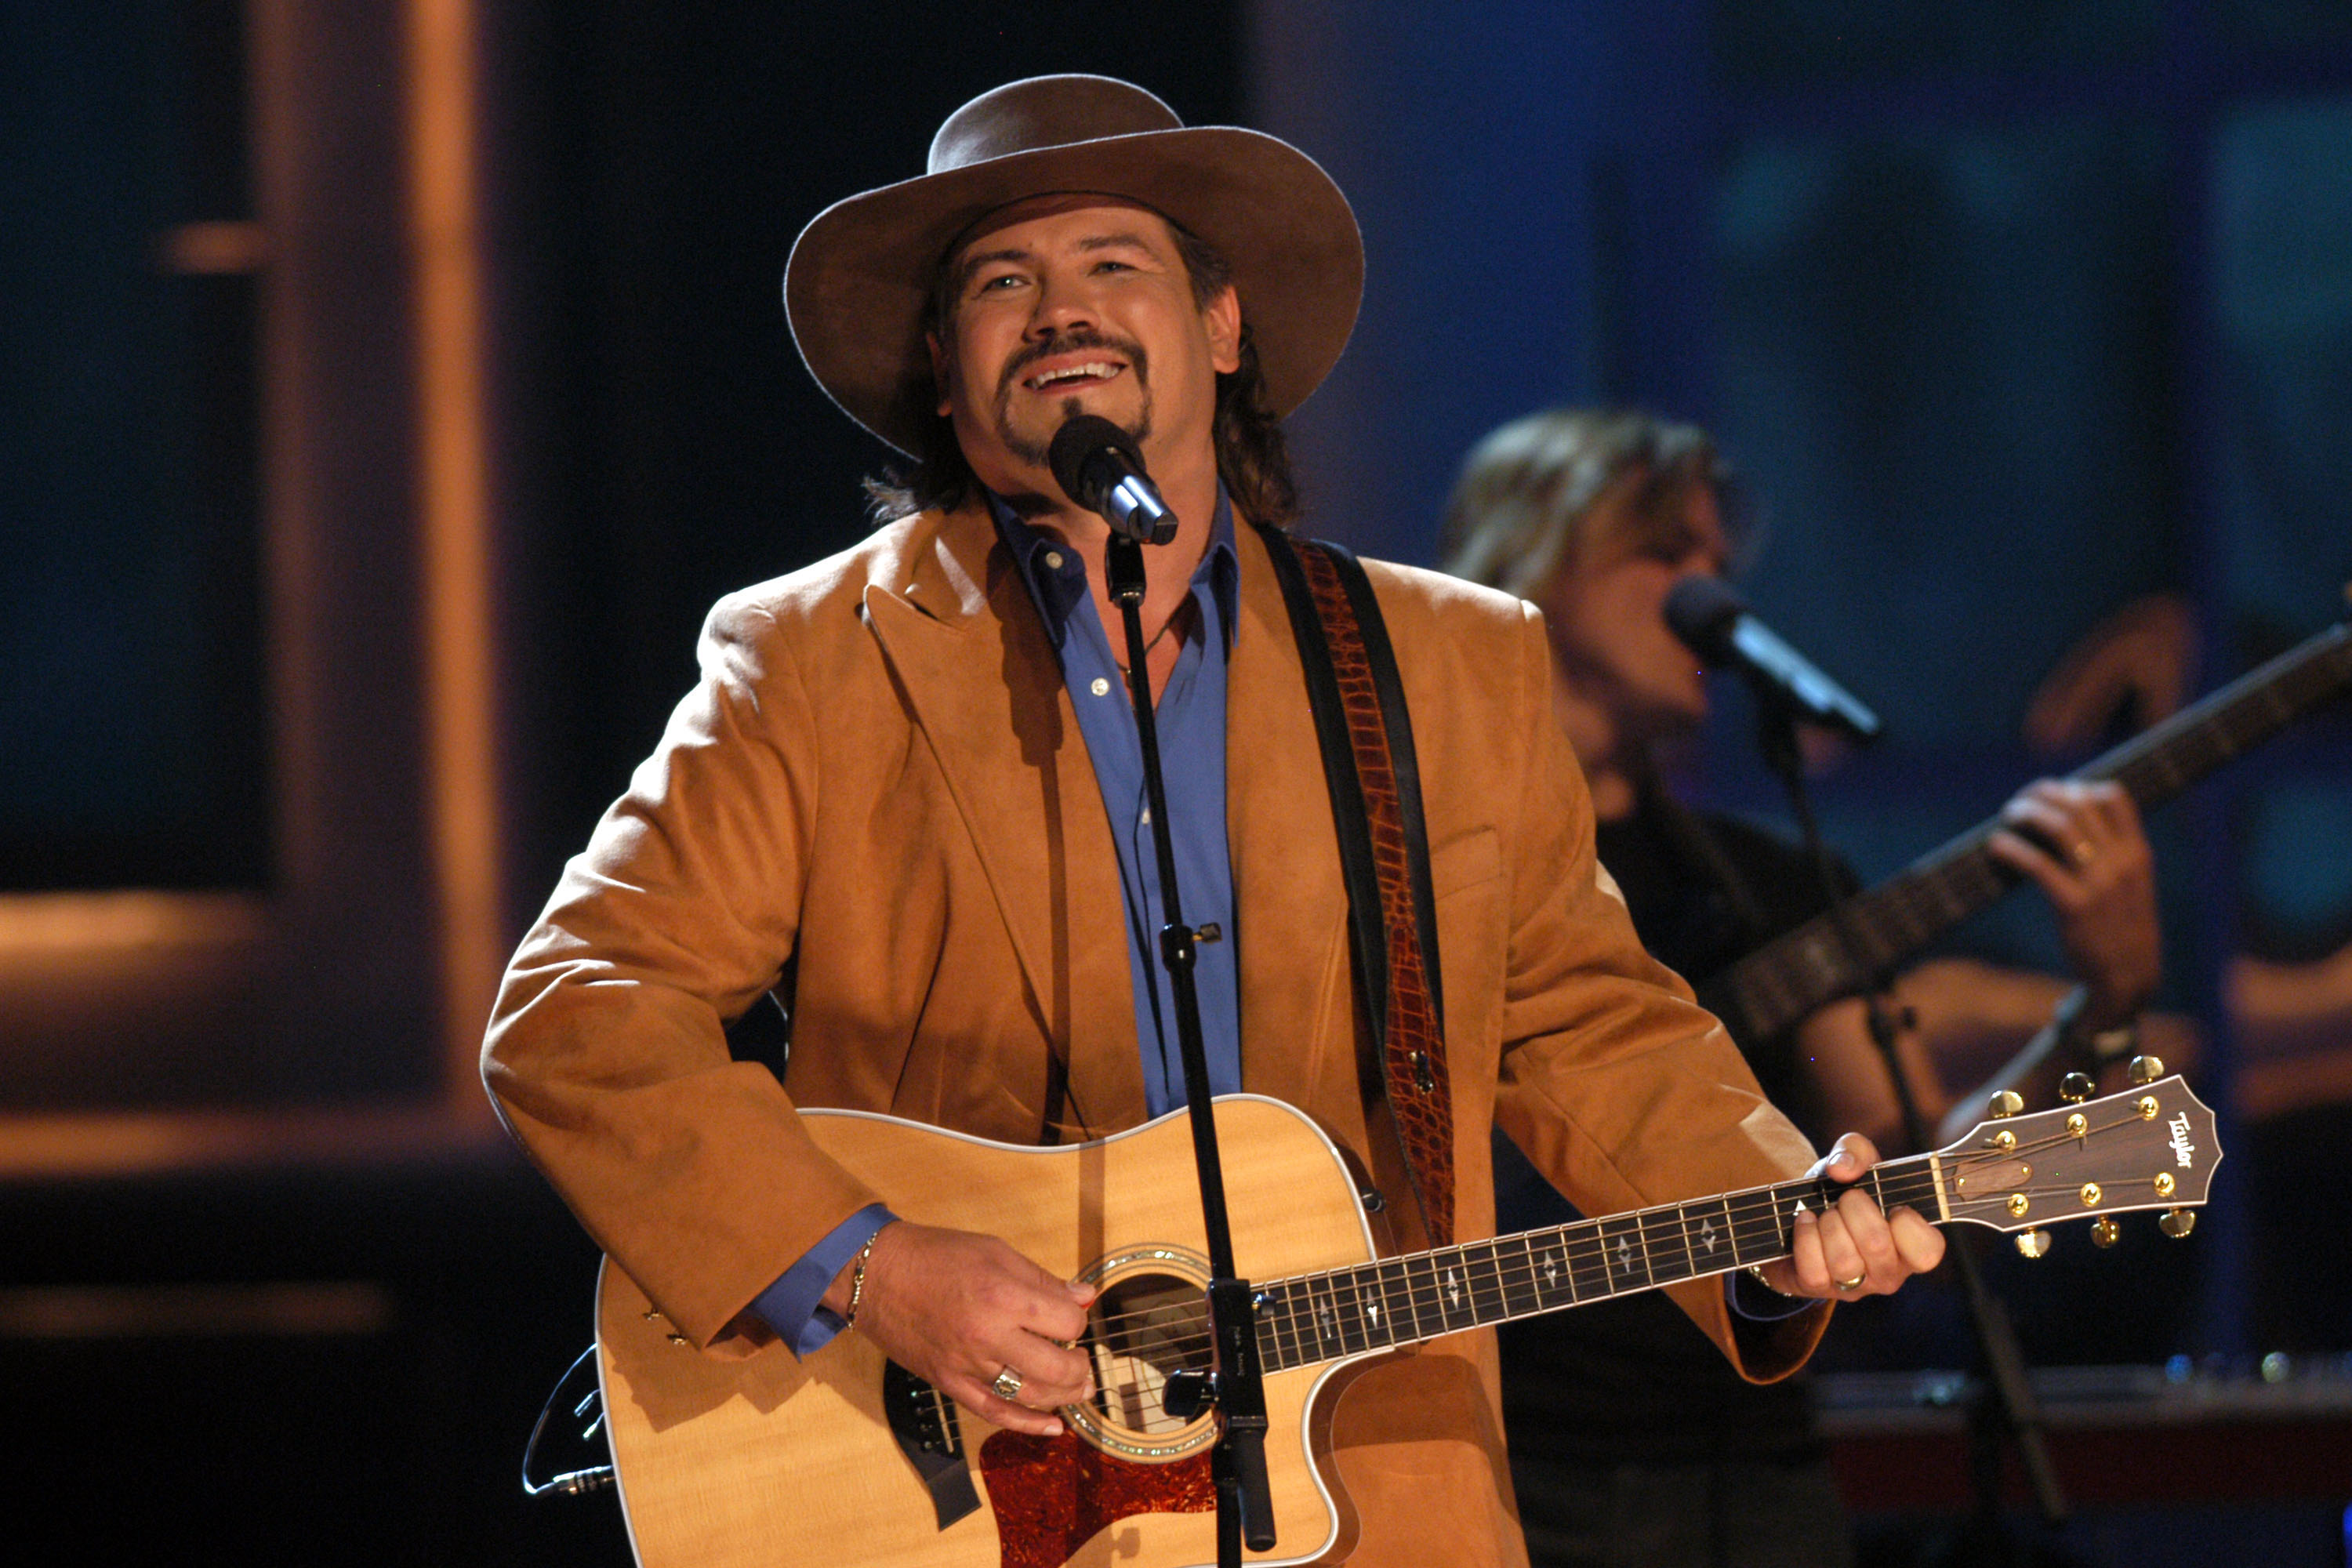
[[[1863, 1185], [1882, 1208], [1943, 1213], [1929, 1154], [1884, 1161]], [[1268, 1281], [1258, 1356], [1279, 1373], [1771, 1262], [1790, 1253], [1797, 1204], [1820, 1213], [1835, 1192], [1795, 1180]]]

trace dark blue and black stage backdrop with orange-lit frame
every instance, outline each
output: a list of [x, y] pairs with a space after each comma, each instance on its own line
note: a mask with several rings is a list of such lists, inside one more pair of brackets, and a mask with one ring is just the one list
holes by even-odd
[[[708, 604], [861, 531], [884, 451], [793, 353], [793, 235], [1037, 71], [1355, 200], [1315, 531], [1428, 562], [1534, 407], [1715, 428], [1750, 597], [1891, 724], [1818, 780], [1865, 877], [2343, 614], [2333, 0], [0, 7], [0, 1418], [45, 1561], [626, 1561], [609, 1497], [513, 1483], [595, 1253], [489, 1126], [487, 983]], [[2086, 639], [2105, 705], [2030, 729]], [[1691, 780], [1778, 818], [1724, 708]], [[2267, 1486], [2093, 1488], [2086, 1561], [2343, 1561], [2347, 764], [2338, 703], [2154, 820], [2232, 1150], [2194, 1244], [1997, 1269], [2042, 1363], [2333, 1415]], [[1945, 952], [2058, 961], [2023, 898]], [[1933, 1295], [1853, 1321], [1856, 1366], [1966, 1359]]]

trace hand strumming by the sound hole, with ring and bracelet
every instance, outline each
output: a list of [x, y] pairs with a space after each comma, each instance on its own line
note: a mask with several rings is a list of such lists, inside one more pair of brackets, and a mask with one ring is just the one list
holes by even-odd
[[[1056, 1410], [1094, 1394], [1087, 1356], [1065, 1345], [1091, 1302], [1094, 1286], [1054, 1279], [995, 1237], [896, 1220], [866, 1260], [856, 1333], [983, 1420], [1058, 1436]], [[849, 1269], [826, 1305], [847, 1309]], [[1014, 1399], [993, 1387], [1004, 1371], [1021, 1380]]]

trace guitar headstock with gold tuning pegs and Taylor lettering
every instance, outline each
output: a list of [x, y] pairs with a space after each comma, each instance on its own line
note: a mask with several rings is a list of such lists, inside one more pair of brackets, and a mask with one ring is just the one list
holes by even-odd
[[2206, 1201], [2220, 1140], [2211, 1107], [2173, 1074], [2082, 1105], [1978, 1121], [1938, 1150], [1936, 1164], [1945, 1218], [2032, 1232], [2140, 1208], [2194, 1208]]

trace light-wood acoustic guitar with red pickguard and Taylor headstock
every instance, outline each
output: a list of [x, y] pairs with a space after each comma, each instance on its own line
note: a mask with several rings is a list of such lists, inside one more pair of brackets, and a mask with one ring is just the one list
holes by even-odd
[[[906, 1215], [993, 1232], [1101, 1286], [1080, 1347], [1098, 1394], [1051, 1441], [1002, 1432], [844, 1333], [743, 1361], [673, 1340], [607, 1260], [597, 1363], [642, 1568], [1181, 1568], [1216, 1561], [1216, 1415], [1174, 1415], [1169, 1375], [1204, 1368], [1209, 1265], [1183, 1112], [1070, 1147], [1014, 1147], [858, 1112], [802, 1112], [809, 1135]], [[1381, 1258], [1357, 1182], [1301, 1112], [1216, 1103], [1235, 1267], [1254, 1284], [1277, 1547], [1254, 1563], [1345, 1556], [1355, 1519], [1327, 1467], [1352, 1373], [1439, 1335], [1785, 1258], [1799, 1201], [1780, 1182]], [[2161, 1208], [2183, 1234], [2220, 1147], [2178, 1077], [1985, 1121], [1863, 1185], [1886, 1208], [2004, 1232]]]

